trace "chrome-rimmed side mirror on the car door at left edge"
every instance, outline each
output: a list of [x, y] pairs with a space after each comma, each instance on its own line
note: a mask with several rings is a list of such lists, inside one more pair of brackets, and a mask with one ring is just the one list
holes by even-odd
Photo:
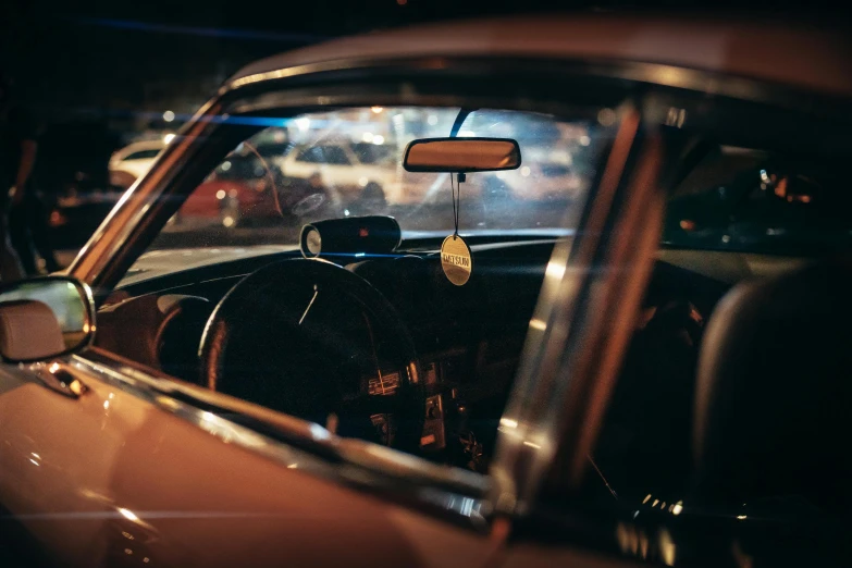
[[0, 356], [33, 362], [88, 345], [95, 301], [85, 284], [46, 276], [0, 286]]

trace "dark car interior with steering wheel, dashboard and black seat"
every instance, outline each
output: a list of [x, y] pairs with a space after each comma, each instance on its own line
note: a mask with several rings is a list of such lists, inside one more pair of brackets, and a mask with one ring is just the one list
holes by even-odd
[[[826, 499], [841, 491], [848, 497], [838, 486], [843, 476], [837, 474], [852, 472], [848, 453], [840, 456], [813, 441], [825, 429], [844, 428], [849, 388], [835, 370], [850, 362], [842, 348], [849, 334], [829, 330], [850, 306], [845, 299], [838, 304], [848, 296], [841, 291], [845, 284], [824, 276], [850, 274], [849, 267], [814, 264], [824, 248], [785, 249], [775, 242], [762, 248], [767, 230], [777, 229], [766, 217], [751, 219], [750, 229], [739, 233], [724, 218], [701, 221], [702, 230], [693, 232], [706, 201], [696, 201], [694, 215], [683, 201], [744, 184], [771, 207], [813, 220], [819, 218], [814, 208], [832, 202], [826, 196], [835, 185], [813, 182], [810, 169], [807, 183], [790, 182], [795, 192], [778, 190], [779, 180], [799, 172], [778, 169], [777, 157], [770, 160], [763, 150], [716, 140], [703, 156], [697, 163], [706, 168], [709, 160], [712, 175], [696, 169], [671, 193], [639, 324], [589, 456], [583, 492], [631, 503], [660, 495], [670, 506], [695, 491], [730, 503], [792, 492], [836, 508], [840, 501]], [[378, 235], [382, 231], [372, 229], [385, 226], [386, 219], [329, 221], [322, 239], [334, 242], [353, 223]], [[781, 220], [788, 221], [789, 215]], [[342, 246], [311, 258], [318, 255], [302, 242], [289, 250], [136, 279], [100, 307], [96, 344], [344, 436], [486, 472], [559, 238], [471, 236], [477, 269], [464, 286], [443, 273], [442, 238], [402, 233], [391, 248], [370, 240], [366, 248]], [[818, 333], [803, 333], [803, 321]], [[405, 379], [412, 363], [417, 388]], [[234, 369], [239, 373], [225, 372]], [[286, 388], [281, 369], [288, 373]], [[811, 381], [826, 388], [802, 387]], [[786, 424], [783, 433], [779, 423]], [[755, 444], [765, 453], [751, 453]], [[712, 465], [702, 469], [697, 485], [696, 454]], [[804, 485], [801, 468], [790, 469], [793, 457], [813, 466]], [[741, 467], [744, 460], [761, 465]], [[774, 470], [773, 483], [761, 474], [767, 468]], [[789, 479], [775, 468], [787, 468]]]

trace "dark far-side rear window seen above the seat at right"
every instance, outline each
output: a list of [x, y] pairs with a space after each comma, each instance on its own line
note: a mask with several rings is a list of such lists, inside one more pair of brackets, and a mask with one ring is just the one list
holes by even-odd
[[852, 245], [850, 198], [837, 164], [720, 147], [668, 202], [664, 244], [811, 256]]

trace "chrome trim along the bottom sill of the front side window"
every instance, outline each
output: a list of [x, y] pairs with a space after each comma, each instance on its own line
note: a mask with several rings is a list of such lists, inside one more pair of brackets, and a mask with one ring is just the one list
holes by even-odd
[[[86, 354], [73, 355], [65, 362], [65, 368], [78, 380], [94, 378], [192, 423], [225, 443], [260, 454], [285, 468], [299, 469], [382, 496], [419, 503], [427, 511], [431, 509], [476, 531], [485, 532], [487, 529], [493, 509], [487, 499], [490, 481], [484, 476], [439, 466], [378, 444], [341, 439], [319, 424], [279, 415], [282, 420], [274, 424], [275, 429], [282, 432], [289, 430], [288, 433], [294, 437], [313, 445], [313, 449], [295, 447], [193, 404], [193, 400], [212, 403], [219, 398], [215, 400], [218, 409], [227, 409], [222, 406], [223, 395], [210, 393], [209, 400], [201, 400], [190, 386], [159, 379], [137, 366], [96, 358], [104, 360], [97, 361]], [[242, 413], [236, 409], [234, 411]]]

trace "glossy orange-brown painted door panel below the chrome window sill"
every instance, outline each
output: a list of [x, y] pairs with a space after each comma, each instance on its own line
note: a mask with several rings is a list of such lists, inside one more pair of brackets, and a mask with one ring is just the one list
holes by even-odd
[[13, 557], [66, 566], [476, 566], [493, 546], [470, 522], [459, 529], [354, 491], [308, 454], [143, 393], [132, 385], [153, 378], [104, 354], [57, 365], [85, 383], [85, 396], [0, 373], [0, 498], [13, 514], [2, 528], [33, 543]]

